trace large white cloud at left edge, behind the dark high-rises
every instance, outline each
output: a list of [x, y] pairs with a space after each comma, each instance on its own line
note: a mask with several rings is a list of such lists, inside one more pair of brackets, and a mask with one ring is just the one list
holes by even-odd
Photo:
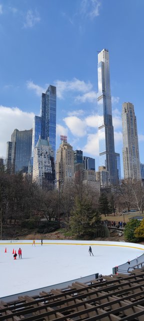
[[10, 141], [15, 128], [18, 130], [32, 128], [34, 114], [25, 112], [17, 107], [0, 105], [0, 156], [6, 155], [6, 142]]

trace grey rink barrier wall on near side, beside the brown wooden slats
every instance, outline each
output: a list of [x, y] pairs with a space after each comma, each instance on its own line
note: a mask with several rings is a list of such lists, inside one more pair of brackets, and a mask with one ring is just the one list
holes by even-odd
[[0, 301], [1, 300], [4, 302], [14, 301], [18, 298], [18, 296], [25, 296], [25, 295], [34, 296], [34, 295], [39, 295], [39, 292], [42, 292], [42, 291], [49, 292], [51, 289], [65, 289], [66, 287], [68, 287], [68, 285], [71, 285], [73, 282], [81, 282], [81, 283], [89, 282], [91, 284], [91, 280], [97, 279], [98, 276], [99, 276], [99, 273], [95, 273], [95, 274], [83, 276], [78, 279], [74, 279], [74, 280], [70, 280], [70, 281], [66, 281], [58, 284], [53, 284], [49, 286], [40, 287], [34, 290], [30, 290], [30, 291], [3, 296], [3, 297], [0, 297]]

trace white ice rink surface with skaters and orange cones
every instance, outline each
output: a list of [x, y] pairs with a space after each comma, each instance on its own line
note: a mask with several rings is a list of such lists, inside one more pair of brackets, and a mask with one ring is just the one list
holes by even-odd
[[[91, 245], [94, 256], [89, 256]], [[6, 253], [4, 252], [6, 247]], [[14, 260], [12, 250], [22, 249]], [[0, 241], [0, 297], [86, 275], [112, 273], [112, 267], [140, 256], [144, 245], [100, 241]]]

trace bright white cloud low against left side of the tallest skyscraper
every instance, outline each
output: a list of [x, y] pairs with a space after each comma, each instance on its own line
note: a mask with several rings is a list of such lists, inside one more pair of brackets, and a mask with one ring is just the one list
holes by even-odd
[[90, 154], [94, 157], [98, 156], [99, 154], [98, 132], [87, 135], [87, 142], [85, 146], [82, 148], [82, 150], [83, 152]]

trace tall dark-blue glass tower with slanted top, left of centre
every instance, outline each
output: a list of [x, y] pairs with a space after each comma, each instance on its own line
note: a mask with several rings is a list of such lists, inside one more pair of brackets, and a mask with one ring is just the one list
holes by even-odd
[[45, 94], [41, 96], [41, 139], [49, 139], [49, 144], [54, 151], [56, 140], [56, 87], [49, 85]]

